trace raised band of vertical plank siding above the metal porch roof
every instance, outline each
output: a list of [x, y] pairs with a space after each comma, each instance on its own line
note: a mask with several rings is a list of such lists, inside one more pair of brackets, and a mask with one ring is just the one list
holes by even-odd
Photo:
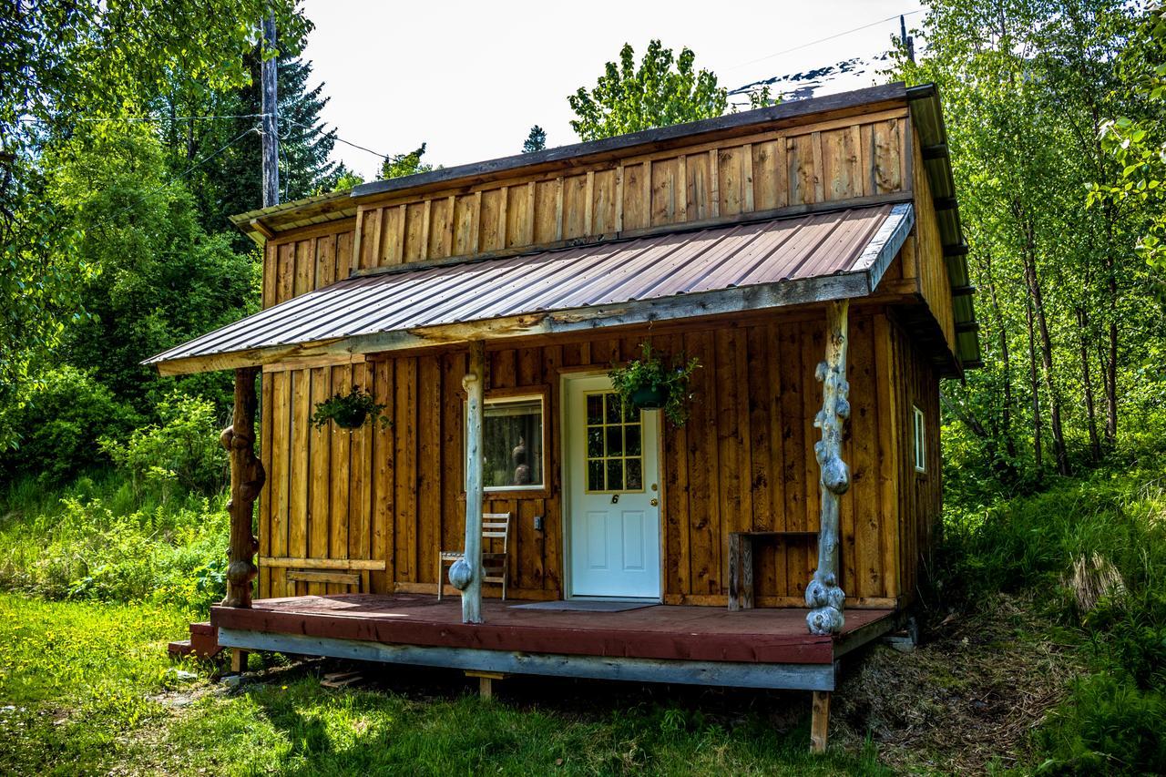
[[360, 205], [352, 268], [902, 191], [912, 183], [906, 117], [899, 108], [597, 163], [570, 175], [401, 192]]

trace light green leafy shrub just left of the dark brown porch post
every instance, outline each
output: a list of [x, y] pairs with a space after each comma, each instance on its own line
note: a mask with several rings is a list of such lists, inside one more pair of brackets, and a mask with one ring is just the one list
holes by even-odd
[[157, 483], [178, 485], [204, 496], [227, 483], [227, 455], [219, 444], [215, 405], [173, 392], [157, 404], [161, 425], [134, 429], [125, 443], [101, 440], [101, 447], [131, 477], [134, 488]]

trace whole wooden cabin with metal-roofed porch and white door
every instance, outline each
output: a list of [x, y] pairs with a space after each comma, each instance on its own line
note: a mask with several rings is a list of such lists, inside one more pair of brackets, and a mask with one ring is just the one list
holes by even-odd
[[[264, 309], [147, 362], [237, 374], [222, 645], [810, 690], [824, 747], [838, 658], [900, 625], [934, 538], [939, 379], [979, 364], [934, 86], [234, 223]], [[683, 426], [611, 391], [644, 343], [700, 359]], [[352, 386], [391, 422], [311, 425]]]

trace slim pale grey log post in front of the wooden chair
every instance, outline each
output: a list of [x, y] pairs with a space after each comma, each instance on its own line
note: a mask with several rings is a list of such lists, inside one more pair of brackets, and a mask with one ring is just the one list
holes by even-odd
[[482, 623], [482, 394], [486, 346], [470, 342], [470, 372], [462, 378], [466, 402], [465, 553], [449, 568], [449, 581], [462, 592], [462, 622]]

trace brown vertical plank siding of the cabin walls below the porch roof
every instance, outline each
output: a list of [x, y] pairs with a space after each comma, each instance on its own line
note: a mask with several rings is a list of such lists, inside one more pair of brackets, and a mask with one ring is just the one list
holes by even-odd
[[[680, 429], [663, 425], [667, 602], [725, 603], [731, 531], [817, 530], [816, 464], [807, 441], [814, 439], [821, 404], [813, 372], [822, 358], [823, 327], [820, 315], [802, 312], [652, 335], [656, 348], [684, 350], [703, 364], [690, 421]], [[515, 598], [562, 593], [561, 378], [603, 372], [635, 356], [647, 336], [621, 331], [487, 352], [487, 397], [515, 391], [548, 397], [548, 488], [486, 495], [487, 511], [515, 516], [510, 568]], [[855, 312], [850, 352], [852, 414], [843, 457], [851, 462], [854, 485], [843, 503], [842, 583], [854, 604], [885, 604], [913, 590], [912, 559], [929, 542], [937, 514], [936, 386], [930, 368], [880, 308]], [[436, 552], [461, 546], [465, 365], [465, 351], [451, 348], [265, 374], [262, 452], [272, 477], [260, 513], [264, 554], [380, 560], [386, 569], [365, 573], [367, 589], [435, 590]], [[386, 405], [391, 428], [304, 427], [315, 402], [353, 384]], [[912, 405], [929, 424], [932, 460], [919, 476], [911, 459]], [[543, 517], [541, 532], [536, 516]], [[800, 603], [814, 550], [813, 542], [763, 550], [758, 603]], [[329, 590], [340, 589], [329, 584]], [[262, 596], [308, 592], [307, 583], [287, 583], [285, 569], [264, 569]], [[487, 596], [498, 593], [487, 587]]]

